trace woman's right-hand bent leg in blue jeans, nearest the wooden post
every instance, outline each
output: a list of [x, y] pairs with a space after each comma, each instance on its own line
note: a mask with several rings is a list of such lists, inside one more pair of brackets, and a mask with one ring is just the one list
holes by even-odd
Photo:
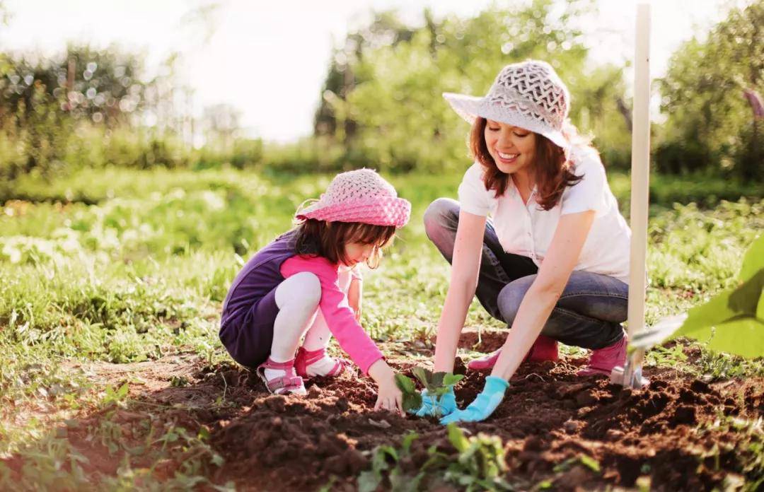
[[[514, 280], [499, 293], [499, 309], [510, 326], [533, 280], [536, 275]], [[626, 321], [628, 295], [629, 286], [616, 278], [574, 271], [542, 335], [565, 345], [591, 348], [590, 368], [609, 374], [626, 357], [621, 323]]]

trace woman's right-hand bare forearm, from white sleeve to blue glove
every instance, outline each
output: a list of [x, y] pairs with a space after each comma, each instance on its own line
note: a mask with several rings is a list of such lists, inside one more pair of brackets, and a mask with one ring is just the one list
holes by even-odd
[[593, 210], [588, 210], [560, 218], [539, 274], [520, 303], [491, 376], [509, 380], [520, 366], [568, 283], [594, 222], [594, 215]]

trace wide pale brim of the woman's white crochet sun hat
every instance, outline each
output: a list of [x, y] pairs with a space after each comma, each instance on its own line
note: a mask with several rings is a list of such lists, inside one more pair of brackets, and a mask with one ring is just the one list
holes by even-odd
[[526, 130], [542, 134], [552, 142], [562, 148], [567, 148], [570, 143], [562, 131], [555, 131], [551, 128], [539, 125], [538, 121], [528, 118], [520, 112], [515, 112], [500, 105], [490, 105], [486, 98], [475, 95], [455, 94], [453, 92], [443, 92], [443, 98], [448, 101], [453, 110], [464, 118], [470, 125], [475, 118], [480, 116], [493, 121], [499, 121], [506, 125], [513, 125]]

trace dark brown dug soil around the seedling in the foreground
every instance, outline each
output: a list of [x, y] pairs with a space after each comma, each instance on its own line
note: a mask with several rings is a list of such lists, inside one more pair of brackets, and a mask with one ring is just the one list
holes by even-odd
[[[606, 377], [576, 376], [583, 363], [523, 364], [494, 415], [462, 425], [471, 434], [502, 439], [506, 479], [517, 490], [536, 489], [542, 481], [553, 490], [634, 489], [637, 481], [651, 490], [712, 490], [724, 488], [730, 477], [762, 480], [761, 466], [744, 469], [755, 461], [749, 442], [759, 442], [759, 449], [764, 442], [760, 424], [744, 431], [727, 418], [752, 422], [764, 416], [762, 378], [707, 384], [678, 371], [647, 371], [650, 387], [630, 390]], [[225, 459], [210, 468], [215, 483], [234, 481], [242, 490], [317, 490], [331, 483], [332, 490], [356, 490], [374, 447], [398, 446], [409, 432], [419, 438], [403, 468], [421, 467], [432, 445], [456, 455], [435, 420], [373, 412], [374, 384], [358, 374], [312, 380], [306, 397], [283, 397], [268, 395], [254, 374], [232, 364], [201, 367], [198, 361], [186, 365], [187, 386], [157, 387], [150, 380], [131, 397], [166, 406], [163, 418], [189, 432], [209, 429], [212, 448]], [[467, 374], [456, 390], [460, 405], [475, 397], [483, 380], [484, 374]], [[118, 419], [129, 422], [131, 415]], [[583, 466], [581, 455], [600, 470]]]

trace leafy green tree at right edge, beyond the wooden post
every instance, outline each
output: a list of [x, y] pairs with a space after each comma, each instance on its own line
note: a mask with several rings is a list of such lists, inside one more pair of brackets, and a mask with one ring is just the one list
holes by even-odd
[[764, 89], [764, 2], [731, 10], [706, 40], [685, 43], [659, 86], [669, 115], [657, 153], [662, 170], [764, 176], [760, 118], [745, 96]]

